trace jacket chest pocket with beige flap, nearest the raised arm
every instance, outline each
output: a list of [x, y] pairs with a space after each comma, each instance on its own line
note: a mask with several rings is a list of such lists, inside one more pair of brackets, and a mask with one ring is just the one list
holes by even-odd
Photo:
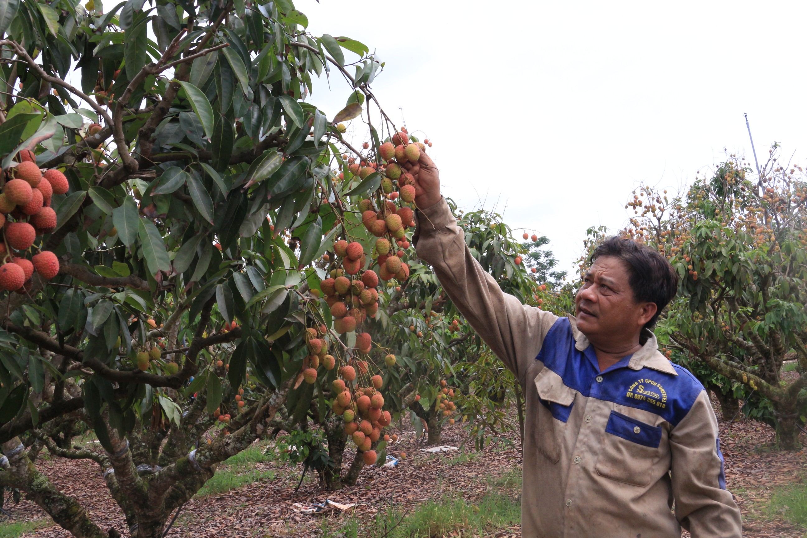
[[575, 402], [576, 391], [564, 385], [562, 378], [546, 367], [535, 377], [535, 388], [538, 394], [535, 445], [547, 460], [558, 463], [564, 427]]

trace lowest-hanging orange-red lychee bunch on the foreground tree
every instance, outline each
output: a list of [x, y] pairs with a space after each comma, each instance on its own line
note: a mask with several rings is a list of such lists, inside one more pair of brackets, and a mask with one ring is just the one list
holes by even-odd
[[[368, 386], [358, 386], [357, 370], [362, 377], [369, 375], [366, 361], [355, 361], [353, 365], [339, 369], [341, 377], [331, 383], [332, 410], [345, 420], [345, 433], [362, 452], [365, 464], [373, 465], [378, 456], [370, 448], [381, 438], [383, 428], [390, 425], [392, 416], [383, 410], [384, 397], [379, 392], [383, 388], [383, 378], [376, 374], [370, 377]], [[354, 388], [353, 382], [357, 385]], [[384, 439], [391, 438], [384, 436]]]

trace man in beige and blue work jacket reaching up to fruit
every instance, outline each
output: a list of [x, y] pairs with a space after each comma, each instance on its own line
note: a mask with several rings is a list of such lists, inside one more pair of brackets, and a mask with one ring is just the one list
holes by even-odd
[[659, 352], [653, 327], [678, 279], [659, 252], [605, 240], [558, 318], [504, 294], [465, 244], [424, 152], [417, 254], [526, 394], [525, 538], [742, 536], [703, 386]]

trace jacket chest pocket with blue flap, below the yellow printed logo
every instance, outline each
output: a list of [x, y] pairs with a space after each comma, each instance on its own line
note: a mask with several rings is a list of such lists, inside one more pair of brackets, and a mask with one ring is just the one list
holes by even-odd
[[632, 486], [647, 486], [653, 465], [662, 457], [662, 428], [611, 411], [605, 426], [596, 472]]

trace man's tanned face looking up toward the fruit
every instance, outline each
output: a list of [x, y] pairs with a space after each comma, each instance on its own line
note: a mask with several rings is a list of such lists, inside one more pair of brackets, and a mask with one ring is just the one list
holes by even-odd
[[635, 337], [655, 311], [655, 303], [635, 301], [628, 265], [614, 256], [596, 259], [575, 297], [577, 327], [592, 343]]

